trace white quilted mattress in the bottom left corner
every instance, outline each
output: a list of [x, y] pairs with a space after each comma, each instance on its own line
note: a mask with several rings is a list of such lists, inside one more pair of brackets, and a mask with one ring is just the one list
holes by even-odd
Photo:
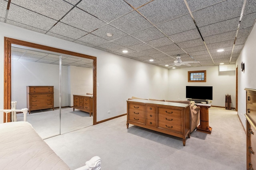
[[30, 123], [0, 123], [1, 170], [70, 170]]

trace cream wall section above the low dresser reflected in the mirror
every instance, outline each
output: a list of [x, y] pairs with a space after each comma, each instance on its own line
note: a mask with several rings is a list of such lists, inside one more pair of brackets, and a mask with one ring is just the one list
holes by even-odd
[[92, 68], [69, 66], [70, 70], [70, 103], [73, 106], [73, 94], [93, 93]]

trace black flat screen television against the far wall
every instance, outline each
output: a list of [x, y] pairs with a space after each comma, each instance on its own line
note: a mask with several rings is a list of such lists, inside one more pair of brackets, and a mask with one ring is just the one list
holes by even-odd
[[186, 86], [186, 98], [212, 100], [212, 86]]

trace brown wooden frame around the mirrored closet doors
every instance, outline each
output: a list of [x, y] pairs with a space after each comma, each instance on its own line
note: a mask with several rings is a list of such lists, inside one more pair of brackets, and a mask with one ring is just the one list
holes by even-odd
[[[96, 101], [97, 101], [97, 96], [96, 96], [96, 80], [97, 80], [97, 74], [96, 74], [96, 68], [97, 68], [97, 58], [90, 56], [90, 55], [85, 55], [81, 53], [76, 53], [72, 51], [67, 51], [63, 49], [57, 49], [54, 47], [48, 47], [45, 45], [40, 45], [36, 43], [30, 43], [27, 41], [22, 41], [18, 39], [12, 39], [8, 37], [4, 37], [4, 109], [11, 109], [11, 80], [12, 80], [12, 44], [16, 45], [22, 45], [25, 47], [32, 47], [35, 49], [41, 49], [41, 50], [46, 50], [46, 51], [52, 51], [55, 53], [62, 53], [66, 55], [73, 55], [77, 57], [82, 57], [86, 59], [92, 59], [93, 60], [93, 125], [97, 124], [97, 114], [96, 114]], [[10, 113], [8, 114], [7, 121], [10, 121]], [[5, 122], [5, 114], [4, 114], [4, 122]]]

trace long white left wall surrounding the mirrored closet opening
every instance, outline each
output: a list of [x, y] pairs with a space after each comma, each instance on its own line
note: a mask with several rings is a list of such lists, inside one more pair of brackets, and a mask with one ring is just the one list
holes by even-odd
[[[131, 96], [166, 98], [168, 70], [70, 41], [0, 22], [0, 107], [4, 101], [4, 37], [38, 43], [97, 57], [97, 121], [126, 113]], [[67, 73], [68, 74], [68, 73]], [[111, 111], [108, 114], [108, 111]], [[0, 115], [0, 122], [3, 116]]]

